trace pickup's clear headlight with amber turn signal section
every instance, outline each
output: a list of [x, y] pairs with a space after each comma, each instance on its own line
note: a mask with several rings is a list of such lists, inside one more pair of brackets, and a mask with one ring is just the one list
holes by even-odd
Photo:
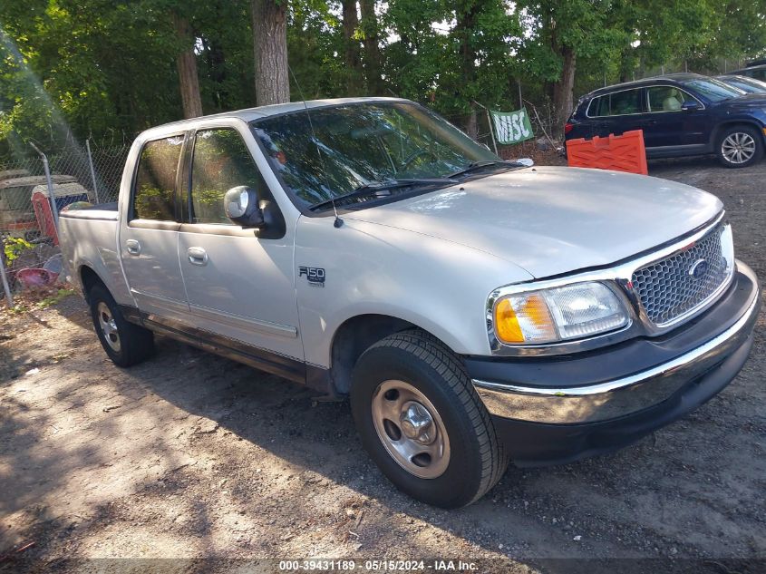
[[509, 345], [596, 335], [625, 326], [628, 320], [616, 294], [596, 282], [509, 295], [494, 308], [496, 335]]

